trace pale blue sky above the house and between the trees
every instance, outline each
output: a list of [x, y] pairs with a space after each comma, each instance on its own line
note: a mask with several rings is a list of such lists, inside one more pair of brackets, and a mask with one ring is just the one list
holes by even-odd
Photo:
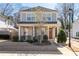
[[[50, 8], [50, 9], [56, 9], [56, 7], [57, 7], [57, 3], [10, 3], [10, 4], [12, 5], [12, 8], [14, 9], [13, 14], [22, 8], [31, 8], [31, 7], [36, 7], [36, 6], [42, 6], [42, 7], [46, 7], [46, 8]], [[1, 7], [3, 7], [3, 3], [0, 3], [0, 8]], [[75, 6], [75, 9], [79, 9], [79, 5], [77, 3]], [[77, 11], [75, 11], [75, 12], [79, 15], [79, 13], [78, 13], [79, 11], [78, 12]]]

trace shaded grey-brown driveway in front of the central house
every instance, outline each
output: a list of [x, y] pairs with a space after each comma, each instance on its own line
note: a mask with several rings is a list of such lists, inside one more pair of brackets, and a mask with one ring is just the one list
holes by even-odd
[[[36, 46], [27, 42], [11, 42], [9, 40], [0, 40], [0, 51], [33, 51], [28, 53], [41, 53], [41, 54], [62, 54], [58, 49], [56, 43], [45, 46]], [[36, 52], [37, 51], [37, 52]]]

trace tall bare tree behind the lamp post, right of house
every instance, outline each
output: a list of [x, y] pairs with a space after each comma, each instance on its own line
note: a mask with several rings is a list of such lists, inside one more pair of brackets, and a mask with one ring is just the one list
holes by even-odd
[[[63, 3], [58, 4], [57, 10], [59, 11], [59, 21], [61, 23], [61, 28], [64, 29], [68, 36], [68, 30], [72, 27], [72, 22], [74, 21], [74, 4], [73, 3]], [[71, 10], [71, 16], [69, 16]], [[70, 20], [71, 17], [71, 20]], [[71, 23], [70, 23], [71, 22]], [[71, 25], [70, 25], [71, 24]]]

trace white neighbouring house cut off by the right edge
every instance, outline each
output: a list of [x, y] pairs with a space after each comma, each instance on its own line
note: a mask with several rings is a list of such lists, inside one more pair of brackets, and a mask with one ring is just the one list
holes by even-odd
[[73, 38], [79, 38], [79, 20], [74, 21], [71, 35]]

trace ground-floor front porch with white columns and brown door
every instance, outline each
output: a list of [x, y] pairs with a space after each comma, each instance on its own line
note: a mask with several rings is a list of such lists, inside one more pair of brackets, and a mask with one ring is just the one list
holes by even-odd
[[56, 26], [34, 26], [34, 25], [27, 25], [27, 26], [18, 26], [19, 28], [19, 40], [21, 36], [39, 36], [39, 35], [47, 35], [48, 39], [55, 39], [57, 35], [57, 27]]

